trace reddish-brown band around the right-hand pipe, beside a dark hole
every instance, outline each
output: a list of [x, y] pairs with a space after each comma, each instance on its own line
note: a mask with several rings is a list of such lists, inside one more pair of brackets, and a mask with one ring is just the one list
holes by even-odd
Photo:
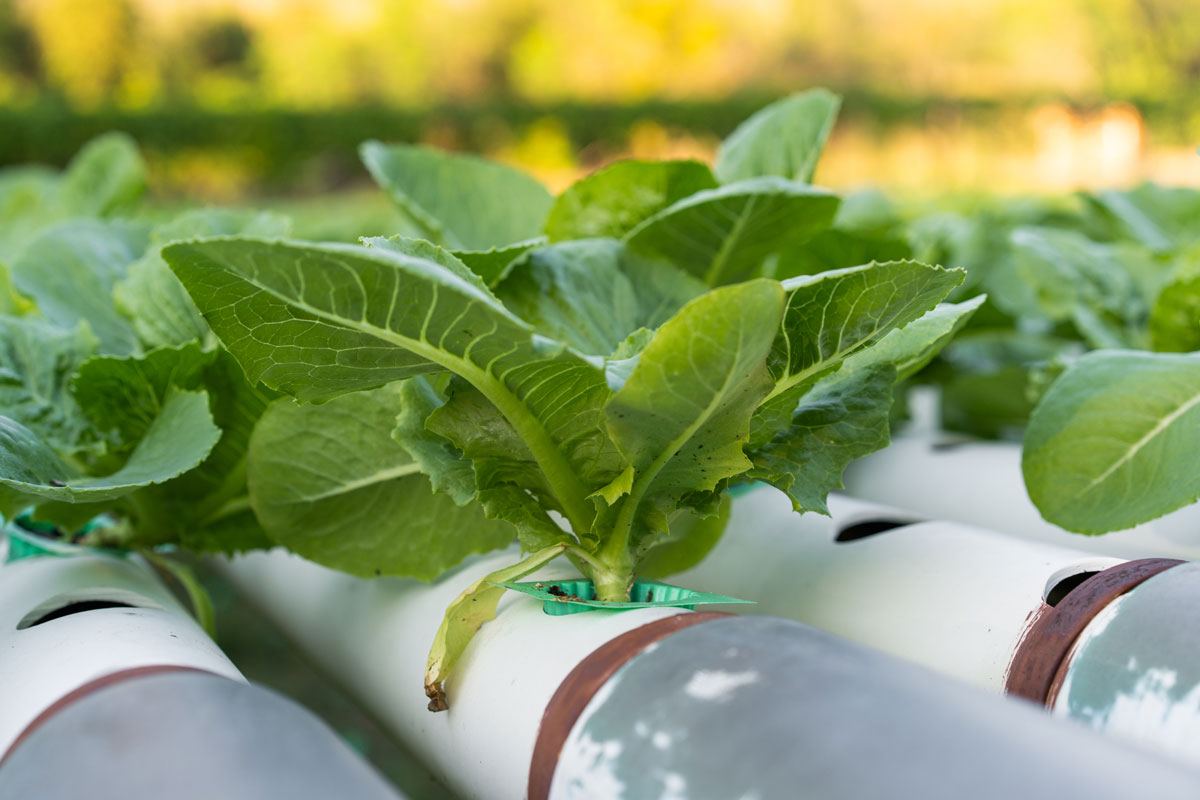
[[[1051, 690], [1066, 666], [1075, 639], [1087, 624], [1114, 600], [1147, 578], [1183, 564], [1175, 559], [1139, 559], [1126, 561], [1079, 584], [1054, 607], [1043, 604], [1016, 646], [1008, 667], [1004, 691], [1040, 705], [1054, 702]], [[1058, 681], [1061, 682], [1061, 678]], [[1057, 693], [1057, 692], [1054, 692]]]

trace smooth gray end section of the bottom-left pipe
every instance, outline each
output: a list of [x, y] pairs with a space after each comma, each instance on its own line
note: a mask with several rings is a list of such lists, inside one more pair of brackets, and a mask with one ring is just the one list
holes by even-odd
[[324, 722], [262, 686], [170, 670], [86, 692], [0, 762], [36, 800], [401, 800]]

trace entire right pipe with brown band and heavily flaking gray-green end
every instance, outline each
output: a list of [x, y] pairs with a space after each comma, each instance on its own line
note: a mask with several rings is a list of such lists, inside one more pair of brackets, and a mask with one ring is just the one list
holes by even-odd
[[1200, 564], [910, 522], [836, 494], [829, 510], [798, 516], [751, 489], [708, 559], [672, 579], [1200, 764]]

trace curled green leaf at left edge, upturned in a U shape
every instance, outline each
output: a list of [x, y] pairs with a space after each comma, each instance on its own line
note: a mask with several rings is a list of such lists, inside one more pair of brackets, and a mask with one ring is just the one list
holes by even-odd
[[0, 486], [32, 498], [60, 503], [97, 503], [186, 473], [216, 444], [204, 392], [173, 391], [125, 465], [103, 477], [85, 477], [68, 468], [29, 428], [4, 417], [0, 429]]

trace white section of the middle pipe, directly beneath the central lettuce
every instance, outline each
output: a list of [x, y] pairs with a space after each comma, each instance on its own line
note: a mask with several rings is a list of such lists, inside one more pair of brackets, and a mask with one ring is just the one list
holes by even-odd
[[[432, 584], [365, 581], [284, 553], [250, 553], [223, 569], [325, 672], [371, 709], [463, 798], [524, 796], [542, 712], [558, 685], [605, 642], [678, 608], [551, 616], [506, 593], [446, 681], [450, 710], [425, 706], [425, 661], [446, 606], [518, 555], [469, 561]], [[552, 565], [527, 579], [576, 577]]]

